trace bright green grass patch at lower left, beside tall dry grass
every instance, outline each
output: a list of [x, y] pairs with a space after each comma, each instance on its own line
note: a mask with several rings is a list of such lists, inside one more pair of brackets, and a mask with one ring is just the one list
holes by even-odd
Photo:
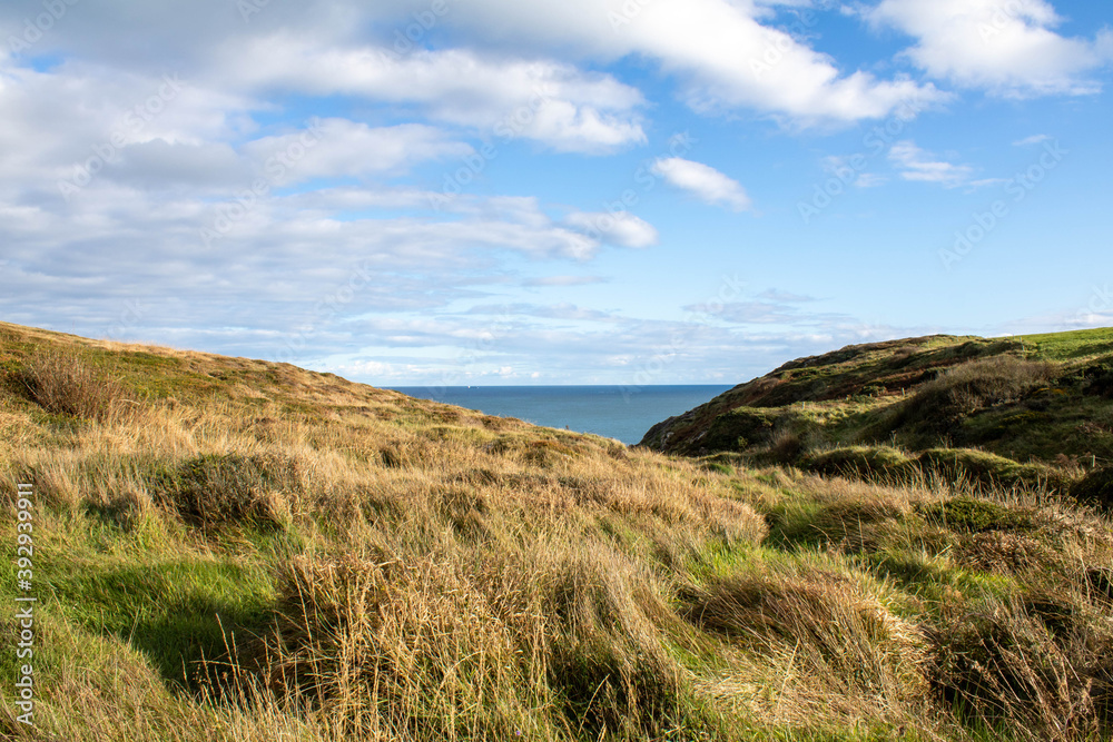
[[[47, 511], [38, 521], [39, 533], [68, 534], [62, 543], [37, 541], [40, 610], [89, 635], [128, 643], [168, 682], [191, 686], [201, 659], [224, 655], [226, 641], [262, 631], [270, 616], [273, 560], [254, 548], [181, 550], [159, 523], [142, 520], [125, 530], [95, 509]], [[3, 598], [14, 597], [13, 584], [14, 575], [0, 591]]]

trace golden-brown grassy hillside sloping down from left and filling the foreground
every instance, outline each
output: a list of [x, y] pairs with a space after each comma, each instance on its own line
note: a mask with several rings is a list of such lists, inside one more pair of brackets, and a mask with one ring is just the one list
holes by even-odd
[[[1015, 343], [1107, 400], [1090, 393], [1097, 339]], [[893, 380], [869, 398], [843, 392], [857, 352], [731, 394], [774, 431], [805, 394], [801, 413], [830, 410], [817, 429], [859, 429], [838, 409], [865, 429], [978, 355], [959, 348], [1005, 350], [907, 345], [934, 365], [861, 354], [857, 376]], [[1075, 394], [1038, 378], [1022, 402]], [[0, 324], [0, 523], [7, 739], [1113, 732], [1113, 530], [1041, 487], [668, 456], [289, 365]], [[27, 594], [33, 730], [11, 703]]]

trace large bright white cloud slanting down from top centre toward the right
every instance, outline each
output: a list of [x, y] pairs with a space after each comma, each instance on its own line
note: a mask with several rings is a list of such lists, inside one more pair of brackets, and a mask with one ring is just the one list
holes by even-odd
[[[423, 1], [402, 9], [421, 10]], [[927, 106], [947, 98], [909, 79], [840, 70], [831, 57], [764, 23], [768, 16], [767, 8], [731, 0], [482, 0], [450, 22], [515, 51], [653, 60], [701, 111], [747, 109], [811, 125], [883, 118], [909, 100]]]

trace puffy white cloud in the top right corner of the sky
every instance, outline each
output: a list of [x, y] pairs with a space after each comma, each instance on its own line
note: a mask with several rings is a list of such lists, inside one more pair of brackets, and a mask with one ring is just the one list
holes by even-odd
[[1113, 60], [1110, 31], [1062, 37], [1045, 0], [884, 0], [867, 17], [914, 37], [906, 53], [928, 75], [1003, 96], [1093, 93]]

